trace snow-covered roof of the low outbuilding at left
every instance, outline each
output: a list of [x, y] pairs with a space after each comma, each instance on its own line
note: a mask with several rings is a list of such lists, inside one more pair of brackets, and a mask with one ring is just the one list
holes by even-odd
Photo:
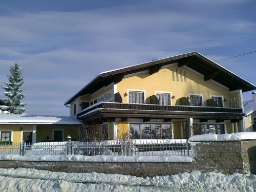
[[72, 117], [56, 115], [0, 115], [0, 124], [58, 124], [79, 125], [81, 122]]

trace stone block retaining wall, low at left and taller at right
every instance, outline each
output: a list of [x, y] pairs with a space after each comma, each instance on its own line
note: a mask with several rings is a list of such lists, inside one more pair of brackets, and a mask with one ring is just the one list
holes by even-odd
[[0, 161], [2, 168], [36, 168], [60, 172], [97, 172], [134, 176], [170, 175], [192, 170], [200, 172], [256, 173], [256, 140], [191, 142], [191, 163], [121, 163], [121, 162], [58, 162]]

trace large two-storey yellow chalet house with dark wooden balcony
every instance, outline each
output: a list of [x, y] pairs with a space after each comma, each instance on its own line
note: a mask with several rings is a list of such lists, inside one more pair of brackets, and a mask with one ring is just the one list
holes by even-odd
[[94, 137], [188, 138], [244, 132], [242, 92], [255, 89], [191, 52], [100, 73], [65, 105]]

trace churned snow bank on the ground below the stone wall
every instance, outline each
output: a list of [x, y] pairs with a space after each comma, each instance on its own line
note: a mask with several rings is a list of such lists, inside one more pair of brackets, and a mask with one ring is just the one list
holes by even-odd
[[199, 171], [170, 176], [64, 173], [0, 168], [0, 191], [254, 191], [256, 176]]

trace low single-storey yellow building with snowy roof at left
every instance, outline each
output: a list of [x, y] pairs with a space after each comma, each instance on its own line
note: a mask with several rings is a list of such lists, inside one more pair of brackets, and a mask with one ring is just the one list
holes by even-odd
[[51, 115], [0, 115], [0, 143], [66, 141], [70, 135], [77, 140], [76, 118]]

